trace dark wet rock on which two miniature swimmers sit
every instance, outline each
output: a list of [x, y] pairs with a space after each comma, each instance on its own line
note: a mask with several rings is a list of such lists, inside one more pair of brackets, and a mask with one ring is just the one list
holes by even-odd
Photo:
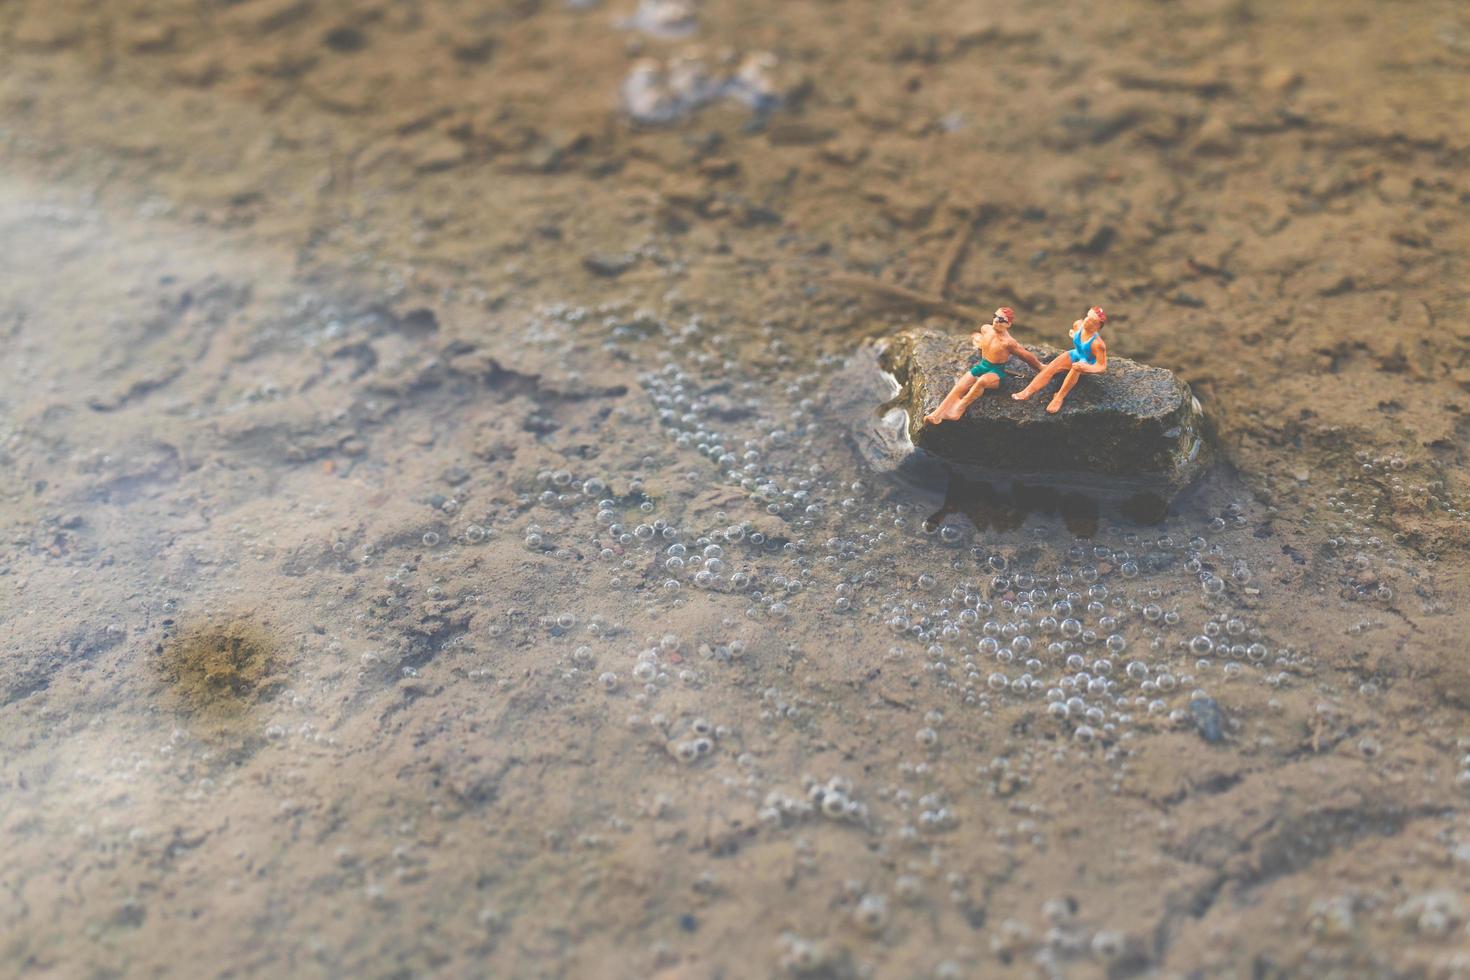
[[[1060, 353], [1028, 348], [1042, 363]], [[1105, 373], [1082, 378], [1057, 414], [1047, 411], [1047, 403], [1063, 376], [1029, 401], [1016, 401], [1010, 395], [1033, 373], [1011, 357], [1011, 375], [980, 395], [963, 419], [926, 425], [923, 417], [978, 360], [969, 336], [929, 329], [900, 334], [881, 354], [883, 369], [901, 385], [892, 404], [907, 411], [913, 445], [961, 472], [1070, 486], [1102, 498], [1150, 494], [1167, 502], [1210, 463], [1200, 403], [1189, 385], [1126, 357], [1110, 356]]]

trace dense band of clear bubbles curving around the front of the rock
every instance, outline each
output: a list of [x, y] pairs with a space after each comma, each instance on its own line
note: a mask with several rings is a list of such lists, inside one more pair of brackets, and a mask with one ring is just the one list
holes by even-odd
[[[639, 478], [614, 494], [600, 476], [541, 472], [528, 502], [562, 516], [570, 533], [594, 535], [614, 586], [635, 589], [647, 605], [709, 592], [742, 597], [747, 619], [775, 629], [828, 616], [885, 629], [900, 644], [889, 655], [916, 657], [954, 701], [980, 710], [1033, 701], [1082, 742], [1114, 741], [1147, 716], [1186, 726], [1186, 705], [1208, 685], [1250, 676], [1289, 683], [1310, 664], [1273, 648], [1238, 608], [1257, 592], [1257, 576], [1204, 536], [1245, 527], [1241, 505], [1226, 507], [1208, 532], [1116, 529], [1111, 544], [1070, 545], [1029, 544], [1036, 532], [1020, 532], [1019, 542], [966, 547], [970, 535], [956, 522], [923, 522], [911, 497], [857, 470], [832, 445], [839, 439], [826, 438], [800, 381], [785, 392], [794, 404], [756, 383], [701, 386], [675, 366], [641, 381], [673, 447], [703, 457], [701, 479], [713, 469], [770, 520], [726, 523], [717, 511], [713, 526], [685, 527], [659, 513], [679, 508], [678, 489], [660, 488], [656, 502]], [[551, 538], [539, 520], [525, 525], [528, 548], [550, 550]], [[906, 572], [914, 564], [928, 567]], [[717, 660], [729, 654], [706, 646]], [[669, 652], [654, 644], [638, 654], [631, 679], [639, 696], [656, 696], [673, 676], [697, 682], [688, 667], [670, 673]], [[623, 688], [620, 671], [595, 676], [610, 692]], [[942, 748], [939, 726], [914, 738], [923, 751]]]

